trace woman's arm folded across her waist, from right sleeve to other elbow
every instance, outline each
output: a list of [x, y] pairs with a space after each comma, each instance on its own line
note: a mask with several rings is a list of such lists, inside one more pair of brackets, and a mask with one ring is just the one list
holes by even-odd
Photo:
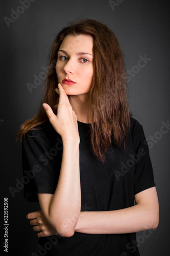
[[159, 223], [159, 204], [155, 187], [135, 195], [136, 205], [110, 211], [81, 212], [75, 231], [89, 234], [131, 233], [154, 229]]

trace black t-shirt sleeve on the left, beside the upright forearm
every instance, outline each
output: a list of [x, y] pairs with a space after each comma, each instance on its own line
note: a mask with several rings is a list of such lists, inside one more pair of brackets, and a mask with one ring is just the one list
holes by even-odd
[[22, 139], [24, 199], [38, 202], [37, 193], [54, 194], [60, 174], [62, 140], [54, 129], [30, 130]]

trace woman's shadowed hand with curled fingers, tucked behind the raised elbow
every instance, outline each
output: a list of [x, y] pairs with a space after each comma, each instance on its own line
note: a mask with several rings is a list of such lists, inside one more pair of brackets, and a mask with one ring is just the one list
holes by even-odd
[[34, 231], [39, 232], [37, 234], [37, 236], [39, 238], [48, 237], [48, 236], [56, 236], [58, 234], [56, 232], [55, 228], [47, 222], [47, 220], [45, 219], [41, 210], [35, 211], [35, 212], [30, 212], [27, 215], [27, 219], [31, 220], [30, 224], [32, 226], [34, 226], [33, 227]]

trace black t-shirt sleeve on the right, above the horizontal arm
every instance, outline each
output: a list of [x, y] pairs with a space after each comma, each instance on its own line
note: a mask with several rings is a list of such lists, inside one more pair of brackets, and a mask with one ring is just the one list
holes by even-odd
[[[136, 121], [136, 120], [135, 120]], [[143, 128], [138, 121], [133, 123], [133, 146], [135, 155], [133, 156], [136, 162], [134, 173], [134, 195], [137, 193], [155, 186], [154, 174], [149, 154], [149, 147]]]

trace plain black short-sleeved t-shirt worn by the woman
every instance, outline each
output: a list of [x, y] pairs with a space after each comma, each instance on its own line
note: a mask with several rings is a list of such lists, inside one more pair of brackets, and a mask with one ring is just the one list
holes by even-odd
[[[134, 205], [134, 195], [155, 186], [148, 144], [142, 126], [131, 118], [124, 144], [117, 148], [111, 137], [105, 163], [96, 159], [90, 145], [89, 124], [78, 121], [80, 135], [81, 210], [108, 211]], [[22, 142], [23, 175], [27, 176], [24, 198], [38, 202], [37, 193], [54, 194], [60, 174], [62, 139], [51, 124], [29, 131]], [[61, 212], [62, 214], [62, 212]], [[53, 239], [55, 242], [52, 242]], [[135, 233], [85, 234], [70, 238], [39, 238], [39, 254], [62, 256], [139, 255]]]

